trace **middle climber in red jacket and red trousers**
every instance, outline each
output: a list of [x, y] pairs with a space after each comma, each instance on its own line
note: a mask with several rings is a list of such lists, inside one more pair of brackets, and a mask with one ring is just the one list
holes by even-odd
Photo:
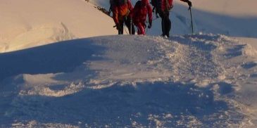
[[149, 26], [151, 28], [152, 25], [152, 8], [149, 4], [148, 0], [137, 1], [137, 4], [134, 6], [134, 10], [132, 12], [132, 20], [134, 25], [137, 26], [137, 34], [146, 34], [146, 15], [148, 14], [149, 18]]

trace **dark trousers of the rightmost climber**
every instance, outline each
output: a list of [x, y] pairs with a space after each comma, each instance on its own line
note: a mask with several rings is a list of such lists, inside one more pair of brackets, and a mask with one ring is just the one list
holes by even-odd
[[160, 11], [162, 36], [170, 37], [171, 21], [169, 11]]

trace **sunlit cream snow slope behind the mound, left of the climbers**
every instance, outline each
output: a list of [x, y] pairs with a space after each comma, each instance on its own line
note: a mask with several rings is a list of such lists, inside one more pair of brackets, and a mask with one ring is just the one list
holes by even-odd
[[81, 0], [0, 1], [0, 15], [0, 53], [116, 33], [108, 15]]

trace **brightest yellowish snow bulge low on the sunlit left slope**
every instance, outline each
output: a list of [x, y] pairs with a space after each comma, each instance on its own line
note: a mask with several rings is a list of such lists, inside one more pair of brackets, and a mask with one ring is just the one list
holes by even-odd
[[19, 34], [10, 42], [6, 43], [5, 46], [2, 46], [0, 51], [17, 51], [69, 39], [75, 39], [75, 36], [69, 32], [68, 28], [65, 27], [63, 23], [59, 25], [42, 25]]

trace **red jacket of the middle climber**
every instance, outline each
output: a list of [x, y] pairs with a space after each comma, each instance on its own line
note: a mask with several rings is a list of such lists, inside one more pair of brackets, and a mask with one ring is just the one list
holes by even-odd
[[153, 20], [152, 8], [148, 0], [142, 0], [141, 5], [135, 5], [132, 12], [132, 20], [134, 23], [145, 23], [146, 15], [148, 14], [149, 22]]

